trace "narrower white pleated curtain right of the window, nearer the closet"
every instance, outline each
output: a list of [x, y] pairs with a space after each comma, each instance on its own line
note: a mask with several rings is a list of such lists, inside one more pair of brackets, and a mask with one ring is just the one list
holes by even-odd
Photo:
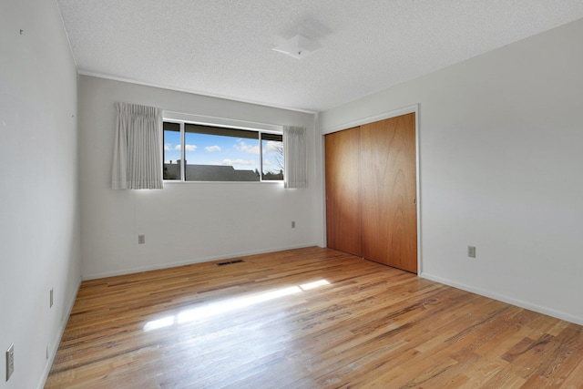
[[284, 187], [306, 188], [308, 186], [308, 153], [306, 151], [306, 129], [283, 127]]

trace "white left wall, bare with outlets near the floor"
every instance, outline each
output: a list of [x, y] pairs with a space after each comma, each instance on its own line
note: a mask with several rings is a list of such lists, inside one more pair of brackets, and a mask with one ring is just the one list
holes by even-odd
[[81, 276], [77, 69], [55, 1], [0, 4], [0, 177], [0, 388], [42, 387]]

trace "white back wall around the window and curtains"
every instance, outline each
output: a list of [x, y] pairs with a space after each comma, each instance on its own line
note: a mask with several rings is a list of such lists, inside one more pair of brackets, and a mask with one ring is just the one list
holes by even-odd
[[[113, 190], [118, 101], [306, 127], [310, 187], [170, 182], [159, 190]], [[84, 278], [323, 244], [322, 178], [314, 163], [321, 137], [314, 131], [314, 115], [82, 76], [79, 120]], [[138, 245], [138, 234], [146, 235], [146, 244]]]

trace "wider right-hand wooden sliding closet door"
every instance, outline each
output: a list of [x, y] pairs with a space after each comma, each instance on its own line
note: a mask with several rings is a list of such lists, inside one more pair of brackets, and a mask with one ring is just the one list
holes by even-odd
[[417, 272], [414, 113], [361, 126], [363, 257]]

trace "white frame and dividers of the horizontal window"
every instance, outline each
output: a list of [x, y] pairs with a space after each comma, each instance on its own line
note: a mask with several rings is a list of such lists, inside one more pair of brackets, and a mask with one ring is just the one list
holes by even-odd
[[[196, 183], [196, 182], [204, 182], [204, 183], [280, 183], [283, 184], [283, 179], [263, 179], [263, 138], [262, 134], [269, 134], [269, 135], [277, 135], [281, 137], [281, 146], [283, 147], [283, 126], [279, 125], [271, 125], [265, 123], [255, 123], [255, 122], [247, 122], [241, 120], [234, 120], [228, 118], [212, 118], [212, 117], [202, 117], [198, 115], [189, 115], [189, 114], [182, 114], [178, 112], [169, 112], [164, 111], [163, 118], [162, 118], [162, 125], [164, 123], [175, 123], [179, 124], [179, 133], [180, 133], [180, 177], [179, 179], [164, 179], [164, 183]], [[186, 125], [192, 124], [196, 126], [204, 126], [204, 127], [213, 127], [213, 128], [228, 128], [228, 129], [241, 129], [246, 131], [252, 131], [257, 133], [257, 139], [260, 148], [259, 154], [259, 179], [253, 181], [237, 181], [237, 180], [210, 180], [210, 181], [202, 181], [202, 180], [187, 180], [186, 179], [186, 164], [183, 163], [186, 160], [186, 150], [185, 150], [185, 143], [186, 143]], [[164, 159], [164, 136], [165, 131], [162, 130], [162, 169], [164, 169], [165, 159]], [[269, 137], [269, 136], [268, 136]], [[272, 139], [266, 139], [272, 140]], [[283, 150], [285, 153], [285, 150]], [[284, 163], [284, 162], [283, 162]], [[285, 171], [284, 167], [282, 167], [282, 172]]]

